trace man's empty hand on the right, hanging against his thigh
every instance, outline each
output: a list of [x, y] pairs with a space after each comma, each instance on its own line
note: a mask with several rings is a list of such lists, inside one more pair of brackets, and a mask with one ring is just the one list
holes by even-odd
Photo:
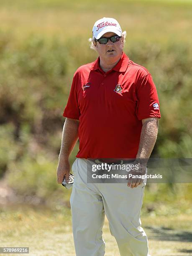
[[[144, 175], [146, 173], [146, 164], [142, 163], [139, 164], [138, 161], [134, 161], [133, 165], [135, 166], [135, 169], [128, 172], [128, 187], [134, 188], [138, 187], [143, 182], [143, 179], [137, 179], [134, 178], [135, 175]], [[132, 177], [129, 178], [130, 174], [132, 174]]]

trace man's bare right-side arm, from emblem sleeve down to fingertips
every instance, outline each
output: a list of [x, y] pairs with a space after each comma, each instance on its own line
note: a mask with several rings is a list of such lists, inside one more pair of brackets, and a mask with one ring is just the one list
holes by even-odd
[[[139, 159], [144, 159], [144, 161], [141, 161], [141, 164], [139, 165], [139, 169], [137, 172], [134, 172], [133, 174], [145, 174], [146, 172], [146, 164], [147, 161], [151, 155], [151, 152], [154, 148], [157, 133], [158, 133], [158, 118], [146, 118], [142, 120], [143, 127], [141, 130], [141, 137], [140, 137], [140, 143], [137, 153], [137, 160], [136, 164], [138, 164]], [[143, 179], [129, 179], [128, 181], [128, 187], [131, 186], [137, 187], [143, 182]]]

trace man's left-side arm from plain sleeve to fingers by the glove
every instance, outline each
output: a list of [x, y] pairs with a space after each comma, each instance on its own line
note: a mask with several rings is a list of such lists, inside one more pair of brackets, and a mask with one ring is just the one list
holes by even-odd
[[59, 154], [59, 163], [57, 166], [57, 183], [61, 184], [66, 176], [66, 181], [69, 181], [70, 164], [69, 155], [71, 154], [75, 143], [78, 139], [79, 120], [66, 118], [62, 139], [61, 150]]

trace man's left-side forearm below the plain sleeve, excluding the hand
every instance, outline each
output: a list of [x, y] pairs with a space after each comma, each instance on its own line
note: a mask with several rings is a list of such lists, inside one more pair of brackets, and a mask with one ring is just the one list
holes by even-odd
[[69, 155], [78, 139], [78, 127], [79, 120], [66, 118], [62, 133], [59, 160], [69, 159]]

